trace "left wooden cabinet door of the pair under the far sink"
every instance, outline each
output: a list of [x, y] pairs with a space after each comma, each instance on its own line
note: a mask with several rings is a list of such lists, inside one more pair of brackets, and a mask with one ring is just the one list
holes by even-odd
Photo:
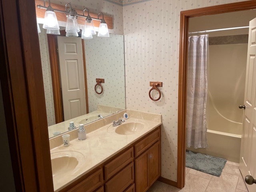
[[135, 188], [136, 192], [146, 192], [149, 188], [149, 164], [148, 164], [148, 152], [144, 152], [139, 156], [135, 162]]

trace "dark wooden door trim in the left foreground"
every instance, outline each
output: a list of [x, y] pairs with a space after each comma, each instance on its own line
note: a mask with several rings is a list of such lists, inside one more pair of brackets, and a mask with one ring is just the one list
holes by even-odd
[[0, 79], [16, 191], [53, 191], [34, 0], [1, 1], [0, 9]]

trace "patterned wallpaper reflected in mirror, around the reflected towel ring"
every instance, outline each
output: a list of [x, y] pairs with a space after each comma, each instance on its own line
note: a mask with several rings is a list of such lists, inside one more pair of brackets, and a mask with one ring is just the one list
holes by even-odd
[[[125, 109], [124, 36], [110, 34], [110, 38], [93, 36], [85, 42], [89, 112], [97, 104]], [[96, 94], [96, 78], [105, 79], [103, 93]], [[100, 87], [97, 86], [100, 92]]]

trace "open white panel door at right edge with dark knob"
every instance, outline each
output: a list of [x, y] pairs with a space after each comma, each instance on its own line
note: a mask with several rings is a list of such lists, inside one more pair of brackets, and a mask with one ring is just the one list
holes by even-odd
[[[244, 94], [244, 123], [240, 152], [240, 170], [243, 178], [256, 178], [256, 18], [250, 21], [246, 83]], [[249, 192], [256, 192], [256, 184], [246, 184]]]

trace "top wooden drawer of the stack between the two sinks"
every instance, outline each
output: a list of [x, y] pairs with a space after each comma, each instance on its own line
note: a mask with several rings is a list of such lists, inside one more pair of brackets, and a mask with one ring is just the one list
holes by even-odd
[[130, 162], [133, 162], [133, 147], [104, 166], [105, 180], [111, 178]]

